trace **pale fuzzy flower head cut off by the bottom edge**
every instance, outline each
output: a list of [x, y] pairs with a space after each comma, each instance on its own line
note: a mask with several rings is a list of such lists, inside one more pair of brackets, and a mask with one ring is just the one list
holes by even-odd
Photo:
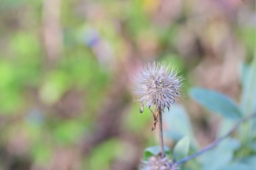
[[150, 157], [148, 161], [143, 161], [141, 170], [179, 170], [177, 163], [172, 163], [167, 157]]

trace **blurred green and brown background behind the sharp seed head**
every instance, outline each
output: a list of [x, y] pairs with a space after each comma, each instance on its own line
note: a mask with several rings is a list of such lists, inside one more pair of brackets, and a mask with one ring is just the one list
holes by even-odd
[[189, 87], [238, 101], [254, 48], [253, 0], [1, 0], [0, 169], [137, 169], [158, 140], [130, 87], [153, 60], [185, 77], [203, 147], [220, 118]]

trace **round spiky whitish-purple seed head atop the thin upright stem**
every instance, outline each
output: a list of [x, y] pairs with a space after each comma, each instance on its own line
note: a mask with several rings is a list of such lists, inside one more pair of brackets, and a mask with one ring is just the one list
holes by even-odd
[[177, 71], [166, 66], [164, 62], [153, 62], [135, 75], [133, 91], [141, 103], [160, 108], [170, 108], [181, 96], [182, 77]]

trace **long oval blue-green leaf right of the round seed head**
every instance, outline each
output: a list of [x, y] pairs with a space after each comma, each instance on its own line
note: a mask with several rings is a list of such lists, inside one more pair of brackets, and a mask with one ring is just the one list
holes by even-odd
[[230, 97], [222, 93], [195, 87], [190, 90], [190, 96], [203, 105], [203, 107], [218, 113], [225, 118], [238, 120], [242, 117], [242, 113], [238, 109], [236, 103], [234, 103]]

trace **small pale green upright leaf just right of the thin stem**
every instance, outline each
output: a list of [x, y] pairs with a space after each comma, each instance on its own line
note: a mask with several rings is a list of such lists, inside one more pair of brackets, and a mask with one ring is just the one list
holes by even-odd
[[188, 136], [183, 137], [173, 149], [173, 157], [176, 161], [179, 161], [189, 154], [190, 140]]

